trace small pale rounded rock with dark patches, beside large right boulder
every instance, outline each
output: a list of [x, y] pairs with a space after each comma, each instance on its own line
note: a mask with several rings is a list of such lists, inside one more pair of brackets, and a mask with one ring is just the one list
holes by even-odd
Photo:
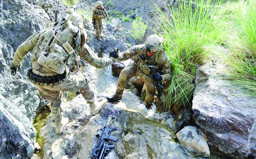
[[187, 126], [176, 133], [179, 142], [190, 152], [199, 154], [202, 157], [210, 157], [208, 144], [200, 129], [194, 126]]

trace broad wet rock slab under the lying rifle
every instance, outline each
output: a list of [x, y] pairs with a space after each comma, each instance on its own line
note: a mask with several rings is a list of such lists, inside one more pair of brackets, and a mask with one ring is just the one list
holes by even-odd
[[[174, 133], [166, 119], [153, 117], [149, 120], [110, 103], [100, 113], [91, 116], [90, 108], [81, 95], [64, 103], [62, 108], [64, 116], [69, 118], [63, 133], [54, 134], [51, 118], [40, 131], [45, 142], [44, 159], [88, 159], [98, 141], [95, 135], [100, 132], [97, 130], [106, 124], [108, 115], [115, 117], [111, 127], [117, 127], [117, 131], [112, 135], [118, 137], [109, 159], [189, 159], [174, 141]], [[163, 116], [168, 115], [164, 113]]]

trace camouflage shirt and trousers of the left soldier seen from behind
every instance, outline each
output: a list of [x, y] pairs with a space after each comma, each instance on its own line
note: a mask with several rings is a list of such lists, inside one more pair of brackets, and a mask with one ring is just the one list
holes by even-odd
[[[81, 29], [81, 28], [80, 28]], [[86, 34], [85, 31], [82, 31], [81, 36]], [[48, 29], [46, 31], [41, 31], [33, 36], [29, 37], [27, 41], [23, 42], [16, 50], [14, 55], [13, 62], [11, 66], [18, 67], [21, 63], [21, 60], [26, 56], [26, 54], [33, 49], [31, 60], [32, 60], [32, 69], [33, 72], [39, 73], [39, 76], [54, 76], [58, 73], [53, 72], [52, 70], [43, 67], [37, 62], [38, 52], [42, 50], [45, 44], [45, 41], [48, 41], [49, 36], [53, 35], [53, 29]], [[73, 36], [70, 36], [73, 38]], [[67, 39], [64, 37], [64, 39]], [[82, 39], [86, 39], [85, 36]], [[86, 40], [85, 40], [86, 41]], [[75, 44], [75, 41], [69, 41], [71, 46]], [[50, 45], [50, 48], [54, 44], [60, 44], [59, 41], [53, 41]], [[81, 47], [76, 50], [75, 54], [80, 56], [83, 60], [88, 62], [94, 67], [103, 68], [107, 65], [115, 62], [115, 59], [110, 58], [98, 58], [83, 42], [81, 43]], [[71, 65], [71, 64], [70, 64]], [[85, 98], [86, 102], [89, 104], [93, 104], [96, 100], [95, 90], [92, 87], [92, 84], [88, 80], [88, 76], [86, 73], [82, 73], [80, 71], [73, 72], [71, 70], [69, 72], [70, 65], [67, 65], [66, 73], [67, 76], [64, 78], [62, 82], [54, 83], [50, 85], [42, 85], [38, 83], [34, 83], [35, 87], [39, 92], [39, 95], [43, 98], [46, 98], [49, 102], [52, 102], [51, 111], [52, 118], [55, 123], [60, 122], [62, 117], [62, 109], [60, 107], [60, 99], [62, 97], [62, 91], [71, 91], [77, 92], [80, 90], [82, 96]]]

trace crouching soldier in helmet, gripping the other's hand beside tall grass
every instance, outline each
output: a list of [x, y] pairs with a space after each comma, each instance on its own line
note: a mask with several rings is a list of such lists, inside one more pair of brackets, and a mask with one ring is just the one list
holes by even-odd
[[[158, 82], [167, 82], [171, 79], [171, 60], [162, 45], [163, 39], [160, 36], [151, 35], [142, 45], [136, 45], [124, 52], [110, 53], [111, 57], [117, 58], [117, 61], [133, 59], [134, 62], [125, 67], [118, 78], [116, 93], [112, 97], [107, 97], [109, 102], [115, 102], [122, 99], [123, 91], [128, 78], [139, 76], [144, 80], [146, 86], [145, 106], [150, 108], [154, 102], [155, 91], [153, 80]], [[148, 65], [157, 68], [157, 73], [153, 79], [149, 77], [150, 69]], [[160, 74], [160, 73], [161, 74]], [[162, 101], [156, 99], [156, 105], [160, 106]]]

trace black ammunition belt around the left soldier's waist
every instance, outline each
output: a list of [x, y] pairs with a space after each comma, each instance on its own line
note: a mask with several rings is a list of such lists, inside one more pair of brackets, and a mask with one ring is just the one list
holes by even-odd
[[27, 72], [27, 77], [29, 78], [30, 81], [34, 83], [38, 83], [41, 85], [49, 85], [49, 84], [62, 82], [66, 78], [66, 72], [64, 72], [63, 74], [55, 75], [55, 76], [43, 77], [33, 73], [32, 69], [30, 69]]

